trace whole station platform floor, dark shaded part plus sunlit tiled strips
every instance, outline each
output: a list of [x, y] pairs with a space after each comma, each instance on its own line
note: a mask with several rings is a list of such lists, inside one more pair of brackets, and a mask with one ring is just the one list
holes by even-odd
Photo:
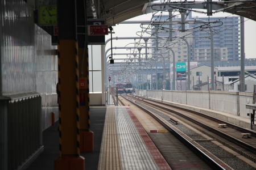
[[[91, 107], [94, 151], [85, 169], [171, 169], [129, 107]], [[58, 123], [43, 133], [44, 151], [27, 170], [53, 169], [59, 156]]]

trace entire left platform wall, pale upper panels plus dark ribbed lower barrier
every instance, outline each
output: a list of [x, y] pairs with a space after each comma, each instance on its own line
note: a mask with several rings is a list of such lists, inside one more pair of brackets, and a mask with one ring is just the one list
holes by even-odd
[[0, 24], [0, 169], [16, 169], [39, 148], [51, 112], [57, 113], [56, 46], [23, 0], [0, 0]]

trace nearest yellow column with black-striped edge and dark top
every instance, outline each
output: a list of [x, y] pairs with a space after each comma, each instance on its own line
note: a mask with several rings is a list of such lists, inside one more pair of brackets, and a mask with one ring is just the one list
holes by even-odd
[[56, 170], [85, 168], [79, 148], [79, 59], [75, 6], [75, 0], [57, 1], [60, 157], [55, 159]]

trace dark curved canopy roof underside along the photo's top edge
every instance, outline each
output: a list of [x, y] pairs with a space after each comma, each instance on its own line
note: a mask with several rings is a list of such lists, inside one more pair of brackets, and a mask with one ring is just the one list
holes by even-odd
[[[92, 2], [92, 1], [91, 1]], [[106, 23], [114, 25], [126, 19], [145, 14], [152, 1], [149, 0], [99, 0], [96, 9], [100, 8], [100, 18], [105, 18]], [[171, 1], [175, 2], [175, 1]], [[177, 2], [177, 1], [176, 1]], [[216, 1], [223, 5], [225, 12], [244, 16], [256, 21], [255, 1]], [[230, 2], [230, 3], [225, 3]]]

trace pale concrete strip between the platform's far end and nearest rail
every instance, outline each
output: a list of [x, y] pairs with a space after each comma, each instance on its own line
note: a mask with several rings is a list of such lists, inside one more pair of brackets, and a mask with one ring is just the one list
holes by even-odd
[[[119, 99], [122, 97], [119, 96]], [[149, 114], [145, 113], [141, 109], [135, 107], [133, 104], [131, 104], [129, 101], [125, 99], [121, 99], [122, 102], [129, 106], [131, 111], [134, 113], [134, 115], [138, 118], [139, 122], [141, 122], [143, 128], [150, 132], [150, 130], [157, 130], [158, 132], [164, 132], [167, 131], [165, 128], [163, 128], [162, 125], [159, 124], [158, 121], [156, 121], [154, 118], [152, 118]]]

